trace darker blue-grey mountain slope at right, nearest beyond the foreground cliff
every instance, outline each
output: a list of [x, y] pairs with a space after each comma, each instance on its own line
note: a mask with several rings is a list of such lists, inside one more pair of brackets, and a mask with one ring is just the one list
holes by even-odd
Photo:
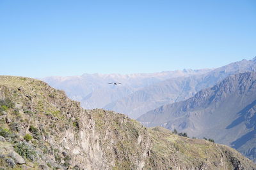
[[148, 127], [213, 138], [256, 161], [256, 73], [228, 76], [194, 97], [148, 111], [138, 120]]

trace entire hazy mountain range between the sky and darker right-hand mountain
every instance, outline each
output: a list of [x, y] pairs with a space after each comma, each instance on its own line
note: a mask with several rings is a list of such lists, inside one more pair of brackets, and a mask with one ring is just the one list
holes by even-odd
[[[212, 87], [227, 76], [256, 71], [256, 57], [216, 69], [184, 69], [161, 73], [83, 74], [42, 78], [54, 88], [65, 90], [86, 109], [104, 108], [138, 118], [164, 104], [183, 101]], [[109, 85], [109, 82], [121, 85]]]

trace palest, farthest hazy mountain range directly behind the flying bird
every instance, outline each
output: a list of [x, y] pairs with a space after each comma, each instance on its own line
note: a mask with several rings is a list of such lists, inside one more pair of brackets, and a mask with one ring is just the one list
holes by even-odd
[[[65, 90], [68, 97], [81, 102], [86, 109], [106, 108], [109, 103], [114, 103], [132, 93], [154, 85], [169, 78], [204, 74], [211, 69], [184, 69], [182, 71], [164, 71], [161, 73], [140, 74], [83, 74], [81, 76], [51, 76], [42, 78], [52, 87]], [[109, 85], [109, 82], [122, 84]], [[145, 112], [143, 112], [145, 113]]]

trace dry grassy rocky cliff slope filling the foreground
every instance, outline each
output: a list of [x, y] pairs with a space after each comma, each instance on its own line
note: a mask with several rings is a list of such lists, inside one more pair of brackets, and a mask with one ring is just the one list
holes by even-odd
[[147, 129], [125, 115], [83, 110], [31, 78], [0, 76], [0, 167], [256, 169], [236, 150]]

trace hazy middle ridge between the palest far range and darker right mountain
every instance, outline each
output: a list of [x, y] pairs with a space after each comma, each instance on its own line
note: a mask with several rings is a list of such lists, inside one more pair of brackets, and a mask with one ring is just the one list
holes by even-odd
[[256, 71], [256, 57], [252, 60], [234, 62], [205, 74], [161, 81], [110, 103], [104, 109], [125, 113], [131, 118], [138, 118], [147, 111], [154, 110], [164, 104], [188, 99], [194, 96], [196, 92], [212, 87], [227, 76], [248, 71]]

